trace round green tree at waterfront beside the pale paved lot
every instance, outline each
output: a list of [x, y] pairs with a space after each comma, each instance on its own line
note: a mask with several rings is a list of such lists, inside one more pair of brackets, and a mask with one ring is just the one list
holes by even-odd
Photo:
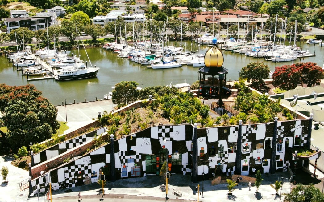
[[121, 81], [112, 90], [112, 103], [117, 105], [127, 105], [137, 100], [138, 83], [135, 81]]

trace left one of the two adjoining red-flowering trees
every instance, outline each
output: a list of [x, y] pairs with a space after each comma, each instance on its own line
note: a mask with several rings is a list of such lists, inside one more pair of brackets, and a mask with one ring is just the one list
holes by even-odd
[[301, 70], [293, 65], [275, 67], [272, 74], [272, 85], [283, 90], [294, 89], [302, 83]]

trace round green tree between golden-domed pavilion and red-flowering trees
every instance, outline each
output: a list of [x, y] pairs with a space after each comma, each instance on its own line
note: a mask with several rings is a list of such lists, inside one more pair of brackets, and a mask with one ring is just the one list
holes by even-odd
[[250, 62], [241, 69], [240, 77], [247, 78], [248, 82], [251, 80], [251, 86], [257, 87], [264, 84], [263, 79], [268, 79], [269, 73], [269, 66], [263, 62]]

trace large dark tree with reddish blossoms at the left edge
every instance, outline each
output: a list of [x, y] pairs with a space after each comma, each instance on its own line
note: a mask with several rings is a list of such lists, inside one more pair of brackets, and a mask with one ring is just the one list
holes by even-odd
[[[8, 92], [9, 90], [9, 92]], [[34, 85], [0, 86], [1, 120], [13, 151], [49, 139], [59, 128], [57, 109]]]

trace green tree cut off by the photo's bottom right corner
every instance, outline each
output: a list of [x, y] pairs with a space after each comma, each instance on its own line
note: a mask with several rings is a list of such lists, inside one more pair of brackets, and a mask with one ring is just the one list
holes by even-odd
[[324, 201], [324, 195], [312, 184], [298, 184], [290, 193], [284, 193], [284, 201], [287, 202], [312, 202]]

